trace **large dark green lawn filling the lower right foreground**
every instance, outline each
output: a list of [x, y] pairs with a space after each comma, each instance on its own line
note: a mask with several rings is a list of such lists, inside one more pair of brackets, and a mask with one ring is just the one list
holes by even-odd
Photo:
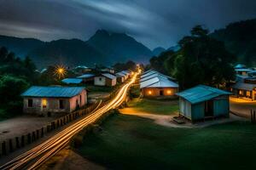
[[161, 127], [118, 115], [84, 138], [82, 156], [111, 169], [255, 169], [256, 126]]

